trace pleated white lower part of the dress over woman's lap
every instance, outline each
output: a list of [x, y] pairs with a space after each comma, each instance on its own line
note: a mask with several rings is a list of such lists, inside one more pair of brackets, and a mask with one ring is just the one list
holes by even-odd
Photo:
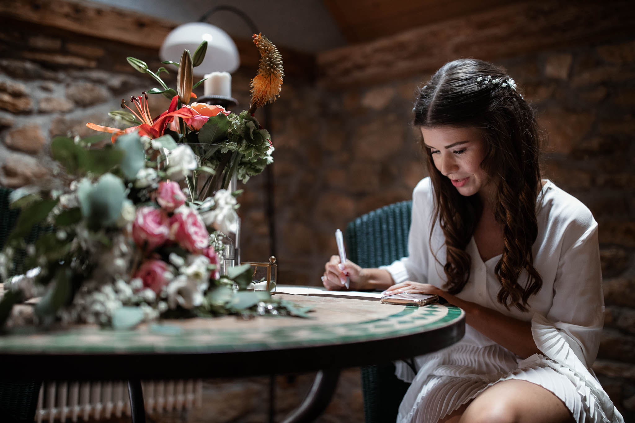
[[594, 374], [558, 329], [540, 315], [534, 316], [531, 329], [544, 355], [519, 360], [498, 344], [483, 346], [487, 338], [468, 328], [457, 344], [418, 356], [416, 376], [403, 362], [396, 363], [396, 375], [411, 381], [399, 406], [397, 422], [436, 423], [496, 382], [518, 379], [554, 393], [577, 423], [623, 423]]

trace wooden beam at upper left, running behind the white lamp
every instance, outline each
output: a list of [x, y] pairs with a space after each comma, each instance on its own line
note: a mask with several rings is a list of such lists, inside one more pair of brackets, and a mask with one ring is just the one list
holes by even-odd
[[[81, 0], [0, 0], [0, 15], [157, 51], [168, 33], [178, 25], [134, 11]], [[251, 40], [234, 41], [241, 66], [257, 67], [260, 56]], [[272, 41], [275, 43], [275, 40]], [[315, 56], [278, 47], [283, 56], [286, 75], [307, 79], [314, 77]]]

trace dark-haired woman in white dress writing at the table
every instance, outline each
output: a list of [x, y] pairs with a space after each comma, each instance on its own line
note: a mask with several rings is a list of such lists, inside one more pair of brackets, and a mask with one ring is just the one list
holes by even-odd
[[540, 134], [503, 70], [446, 63], [415, 103], [429, 178], [413, 192], [409, 256], [362, 269], [338, 256], [323, 282], [438, 294], [465, 337], [417, 357], [398, 422], [622, 422], [595, 379], [603, 326], [598, 225], [540, 179]]

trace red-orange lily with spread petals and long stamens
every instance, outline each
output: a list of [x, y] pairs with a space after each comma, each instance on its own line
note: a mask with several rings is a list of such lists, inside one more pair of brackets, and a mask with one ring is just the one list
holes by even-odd
[[145, 92], [143, 94], [143, 96], [130, 98], [130, 100], [135, 103], [135, 106], [137, 107], [137, 113], [135, 113], [134, 110], [128, 107], [123, 100], [121, 100], [122, 107], [128, 108], [128, 110], [130, 110], [130, 112], [132, 112], [132, 114], [135, 115], [135, 117], [137, 117], [137, 119], [142, 122], [142, 124], [138, 126], [131, 126], [126, 129], [101, 126], [90, 122], [87, 123], [86, 126], [90, 127], [91, 129], [95, 129], [95, 131], [111, 133], [112, 137], [110, 138], [110, 140], [114, 143], [119, 135], [129, 134], [135, 131], [138, 131], [139, 135], [149, 136], [153, 139], [159, 138], [159, 136], [163, 135], [166, 127], [168, 127], [168, 124], [170, 123], [170, 120], [172, 120], [174, 117], [184, 117], [187, 119], [198, 115], [196, 110], [189, 107], [182, 107], [177, 110], [177, 95], [172, 98], [168, 110], [163, 112], [156, 119], [152, 120], [152, 117], [150, 116], [150, 109], [148, 108], [148, 94], [146, 94]]

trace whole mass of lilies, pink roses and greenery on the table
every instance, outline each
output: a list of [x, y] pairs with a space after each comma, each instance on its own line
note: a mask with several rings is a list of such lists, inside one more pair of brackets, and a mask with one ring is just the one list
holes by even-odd
[[[275, 46], [254, 37], [258, 48], [269, 46], [263, 60], [271, 58]], [[267, 291], [247, 290], [252, 282], [248, 264], [229, 268], [227, 275], [218, 271], [220, 239], [237, 223], [236, 193], [224, 187], [232, 172], [246, 180], [271, 162], [269, 134], [253, 110], [274, 99], [281, 78], [277, 91], [267, 91], [275, 94], [264, 98], [258, 94], [259, 73], [252, 81], [251, 108], [239, 115], [214, 105], [188, 105], [192, 66], [202, 62], [199, 50], [204, 55], [205, 44], [193, 61], [184, 52], [178, 93], [166, 112], [151, 119], [144, 93], [133, 99], [137, 112], [114, 113], [134, 126], [88, 124], [112, 133], [112, 143], [95, 148], [98, 137], [54, 138], [57, 177], [46, 187], [12, 193], [11, 206], [22, 211], [0, 253], [0, 326], [61, 321], [130, 328], [159, 317], [306, 316], [307, 309]], [[276, 60], [281, 72], [279, 54]], [[129, 62], [161, 82], [163, 89], [149, 93], [174, 91], [145, 63]], [[202, 196], [213, 181], [197, 190], [196, 172], [222, 185]], [[24, 237], [34, 225], [47, 233], [27, 244]], [[32, 297], [41, 297], [32, 315], [12, 312], [14, 304]]]

